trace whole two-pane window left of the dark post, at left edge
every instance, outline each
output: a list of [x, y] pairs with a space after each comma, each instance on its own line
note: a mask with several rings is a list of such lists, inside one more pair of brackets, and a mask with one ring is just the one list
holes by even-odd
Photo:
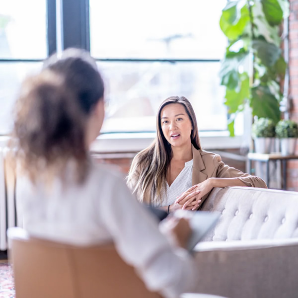
[[0, 0], [0, 135], [10, 131], [20, 82], [46, 56], [46, 0]]

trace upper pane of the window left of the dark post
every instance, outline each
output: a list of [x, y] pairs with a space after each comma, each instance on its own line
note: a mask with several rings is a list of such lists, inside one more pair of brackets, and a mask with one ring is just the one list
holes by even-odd
[[47, 55], [45, 0], [0, 0], [0, 59]]

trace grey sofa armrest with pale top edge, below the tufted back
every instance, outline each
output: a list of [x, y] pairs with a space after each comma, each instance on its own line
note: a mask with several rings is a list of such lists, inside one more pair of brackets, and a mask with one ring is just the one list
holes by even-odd
[[298, 239], [201, 242], [197, 293], [229, 298], [297, 298]]

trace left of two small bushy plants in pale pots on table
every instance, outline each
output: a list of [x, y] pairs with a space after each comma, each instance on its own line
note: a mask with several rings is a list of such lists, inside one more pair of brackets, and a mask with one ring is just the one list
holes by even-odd
[[258, 118], [252, 124], [252, 137], [257, 153], [270, 153], [274, 146], [275, 124], [272, 119]]

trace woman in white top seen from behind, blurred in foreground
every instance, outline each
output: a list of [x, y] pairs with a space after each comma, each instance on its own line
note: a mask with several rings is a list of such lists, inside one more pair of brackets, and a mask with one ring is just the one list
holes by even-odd
[[[89, 156], [104, 118], [103, 95], [95, 61], [77, 49], [50, 58], [24, 81], [11, 145], [22, 177], [23, 227], [33, 236], [76, 245], [113, 241], [151, 291], [178, 297], [199, 280], [192, 257], [159, 232], [123, 177]], [[183, 246], [189, 225], [179, 221], [176, 228]]]

